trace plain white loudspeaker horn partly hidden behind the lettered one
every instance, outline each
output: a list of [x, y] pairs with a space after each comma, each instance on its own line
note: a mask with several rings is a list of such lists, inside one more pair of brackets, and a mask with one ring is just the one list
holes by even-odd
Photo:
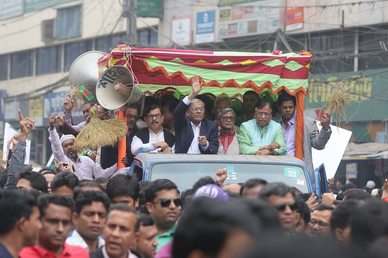
[[69, 83], [71, 86], [85, 85], [93, 95], [98, 81], [98, 60], [104, 56], [101, 51], [89, 51], [79, 56], [70, 66]]

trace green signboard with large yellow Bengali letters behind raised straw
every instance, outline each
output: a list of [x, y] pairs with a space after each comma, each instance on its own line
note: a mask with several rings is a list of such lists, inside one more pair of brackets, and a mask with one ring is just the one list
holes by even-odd
[[312, 75], [309, 78], [305, 108], [321, 109], [326, 104], [331, 82], [352, 85], [354, 101], [346, 107], [349, 122], [382, 121], [387, 119], [388, 69], [375, 69], [363, 72]]

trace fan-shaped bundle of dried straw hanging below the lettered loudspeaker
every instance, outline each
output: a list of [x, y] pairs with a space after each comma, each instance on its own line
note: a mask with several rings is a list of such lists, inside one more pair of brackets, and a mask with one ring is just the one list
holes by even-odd
[[78, 134], [74, 148], [81, 152], [83, 149], [114, 146], [114, 144], [127, 134], [127, 123], [117, 118], [100, 120], [97, 117], [97, 108], [90, 110], [91, 119]]

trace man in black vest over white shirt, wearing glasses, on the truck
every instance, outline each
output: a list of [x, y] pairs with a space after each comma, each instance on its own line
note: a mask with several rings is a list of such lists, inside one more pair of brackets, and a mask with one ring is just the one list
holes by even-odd
[[146, 121], [148, 128], [135, 133], [130, 150], [135, 156], [140, 152], [163, 152], [171, 153], [175, 148], [175, 137], [162, 127], [163, 115], [159, 106], [146, 107]]

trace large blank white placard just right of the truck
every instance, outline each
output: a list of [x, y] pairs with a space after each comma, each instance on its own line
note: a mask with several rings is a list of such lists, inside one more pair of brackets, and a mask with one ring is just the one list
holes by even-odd
[[[322, 129], [319, 121], [317, 121], [317, 126], [319, 130]], [[321, 151], [312, 148], [312, 163], [314, 169], [323, 163], [327, 178], [332, 178], [336, 174], [339, 162], [341, 162], [342, 155], [352, 136], [351, 131], [339, 128], [332, 124], [330, 127], [332, 133], [325, 148]]]

